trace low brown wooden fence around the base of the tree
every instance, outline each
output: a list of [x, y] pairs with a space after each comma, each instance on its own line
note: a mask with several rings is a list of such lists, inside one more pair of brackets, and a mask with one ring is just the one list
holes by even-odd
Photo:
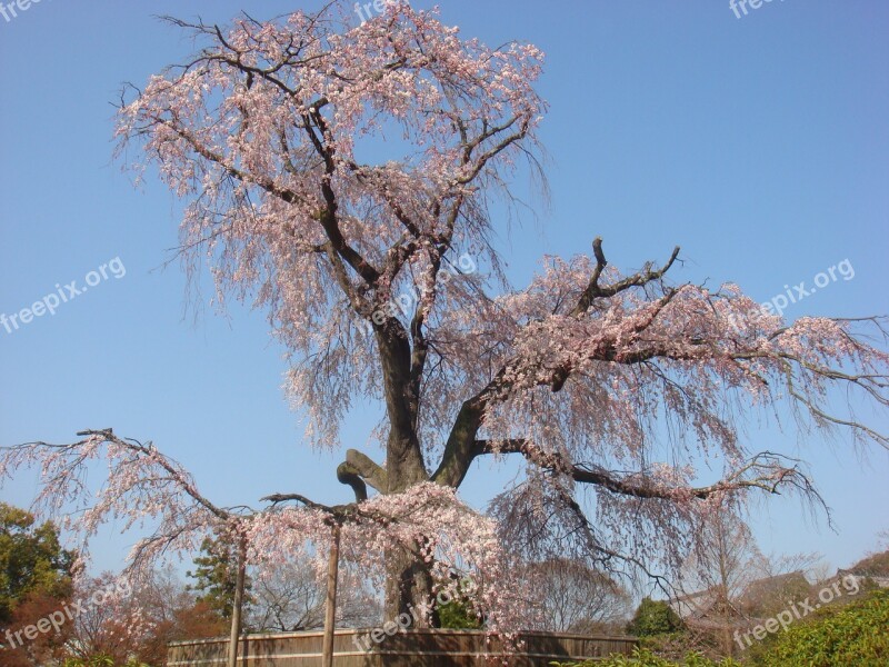
[[[319, 667], [322, 633], [250, 635], [242, 640], [239, 667]], [[379, 637], [379, 635], [378, 635]], [[509, 655], [515, 667], [542, 667], [551, 660], [583, 660], [629, 655], [632, 637], [598, 637], [523, 633], [512, 654], [503, 645], [476, 630], [408, 630], [387, 636], [379, 644], [370, 630], [337, 630], [336, 667], [481, 667], [502, 664]], [[224, 666], [228, 639], [171, 644], [168, 667]]]

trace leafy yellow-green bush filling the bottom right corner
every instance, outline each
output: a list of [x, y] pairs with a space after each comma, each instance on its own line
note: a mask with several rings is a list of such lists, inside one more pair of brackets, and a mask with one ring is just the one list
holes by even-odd
[[889, 590], [841, 607], [823, 607], [772, 639], [759, 665], [889, 665]]

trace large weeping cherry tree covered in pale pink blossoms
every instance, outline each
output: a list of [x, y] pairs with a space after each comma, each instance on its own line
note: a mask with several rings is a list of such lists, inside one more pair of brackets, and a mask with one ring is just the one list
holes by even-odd
[[[128, 88], [120, 155], [187, 202], [181, 255], [191, 270], [209, 262], [220, 301], [266, 310], [306, 440], [344, 449], [337, 479], [354, 501], [278, 494], [247, 520], [154, 450], [130, 452], [138, 465], [112, 452], [110, 497], [144, 500], [106, 497], [87, 530], [103, 512], [153, 512], [162, 529], [137, 554], [150, 556], [230, 524], [263, 563], [307, 539], [323, 551], [341, 525], [347, 557], [386, 573], [388, 617], [470, 563], [495, 618], [516, 608], [497, 586], [507, 550], [649, 571], [681, 564], [701, 517], [727, 504], [820, 501], [802, 462], [743, 441], [753, 411], [889, 445], [852, 409], [889, 405], [881, 319], [787, 323], [736, 286], [672, 281], [678, 248], [620, 272], [599, 238], [589, 255], [543, 258], [523, 289], [508, 282], [497, 212], [519, 203], [518, 176], [543, 176], [533, 46], [486, 47], [407, 2], [361, 24], [340, 2], [224, 29], [170, 21], [203, 48]], [[366, 400], [381, 406], [379, 460], [339, 432]], [[93, 432], [78, 451], [101, 442], [124, 441]], [[62, 476], [51, 494], [77, 484], [53, 468], [68, 455], [37, 451]], [[455, 495], [483, 457], [527, 464], [489, 517]], [[182, 501], [161, 502], [163, 485]]]

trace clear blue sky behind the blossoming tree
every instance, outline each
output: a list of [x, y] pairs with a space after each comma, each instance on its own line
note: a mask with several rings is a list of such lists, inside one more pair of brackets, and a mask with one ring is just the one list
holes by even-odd
[[[284, 365], [260, 312], [209, 306], [177, 266], [180, 205], [156, 180], [131, 187], [111, 160], [122, 81], [137, 84], [192, 50], [151, 14], [224, 22], [319, 2], [43, 0], [0, 17], [0, 312], [17, 312], [119, 257], [126, 277], [7, 334], [0, 328], [0, 444], [64, 441], [87, 427], [154, 440], [192, 469], [219, 504], [299, 490], [348, 499], [338, 458], [300, 444], [280, 386]], [[416, 0], [416, 7], [428, 7]], [[766, 300], [848, 259], [838, 280], [787, 316], [889, 312], [889, 4], [787, 0], [737, 19], [728, 0], [529, 0], [444, 6], [446, 22], [490, 44], [522, 39], [547, 52], [542, 129], [552, 200], [502, 237], [522, 285], [542, 252], [571, 255], [606, 239], [625, 268], [681, 245], [677, 280], [733, 280]], [[506, 229], [506, 228], [503, 228]], [[187, 295], [198, 305], [184, 313]], [[889, 430], [886, 415], [869, 415]], [[368, 415], [346, 428], [363, 445]], [[753, 449], [812, 461], [839, 534], [816, 529], [796, 504], [758, 512], [767, 549], [822, 551], [848, 565], [889, 525], [889, 456], [862, 464], [772, 429]], [[482, 502], [508, 471], [476, 470]], [[26, 505], [32, 478], [0, 491]], [[121, 545], [98, 549], [118, 567]]]

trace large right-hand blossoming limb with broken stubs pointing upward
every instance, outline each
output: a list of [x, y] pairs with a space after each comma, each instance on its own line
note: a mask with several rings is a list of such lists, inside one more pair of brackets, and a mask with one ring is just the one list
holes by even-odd
[[[533, 409], [526, 397], [528, 401], [535, 396], [542, 399], [542, 388], [559, 392], [569, 379], [573, 380], [569, 394], [575, 397], [569, 401], [577, 405], [578, 395], [585, 401], [598, 397], [603, 401], [599, 410], [622, 411], [620, 419], [630, 420], [632, 439], [623, 441], [630, 449], [641, 429], [653, 428], [650, 420], [637, 419], [630, 409], [649, 387], [668, 415], [678, 416], [686, 428], [698, 430], [705, 440], [712, 438], [732, 459], [745, 452], [738, 451], [737, 431], [726, 421], [726, 410], [720, 406], [745, 395], [751, 405], [766, 401], [777, 406], [779, 399], [789, 397], [791, 407], [805, 408], [805, 412], [796, 414], [802, 428], [812, 422], [841, 426], [857, 439], [889, 445], [883, 434], [853, 416], [837, 415], [826, 405], [829, 388], [836, 386], [860, 390], [878, 407], [889, 407], [889, 355], [850, 329], [852, 323], [875, 325], [885, 341], [881, 318], [853, 322], [801, 318], [785, 326], [732, 286], [728, 287], [735, 291], [721, 293], [693, 285], [660, 285], [660, 296], [650, 293], [645, 287], [663, 278], [675, 265], [677, 251], [660, 269], [648, 265], [603, 287], [600, 278], [607, 261], [599, 239], [593, 253], [597, 263], [578, 301], [582, 312], [560, 293], [555, 311], [539, 319], [528, 315], [527, 321], [516, 327], [507, 348], [510, 355], [503, 357], [487, 385], [462, 404], [433, 476], [436, 481], [462, 481], [477, 456], [478, 434], [482, 426], [492, 425], [492, 415], [499, 410], [506, 415], [516, 409], [511, 406]], [[552, 275], [547, 278], [551, 280]], [[547, 282], [547, 287], [558, 285]], [[540, 287], [535, 290], [531, 303], [540, 299]], [[590, 309], [591, 297], [598, 300], [595, 309]], [[776, 396], [772, 388], [781, 382], [787, 394]], [[615, 395], [615, 388], [623, 398]], [[639, 402], [636, 409], [651, 414], [650, 405]], [[518, 415], [515, 418], [522, 419]], [[515, 430], [515, 421], [497, 419], [497, 432]], [[590, 427], [598, 428], [590, 419]], [[616, 424], [613, 428], [622, 427]], [[589, 446], [579, 435], [563, 432], [562, 437], [572, 440], [575, 448]], [[588, 477], [600, 474], [587, 471]]]

